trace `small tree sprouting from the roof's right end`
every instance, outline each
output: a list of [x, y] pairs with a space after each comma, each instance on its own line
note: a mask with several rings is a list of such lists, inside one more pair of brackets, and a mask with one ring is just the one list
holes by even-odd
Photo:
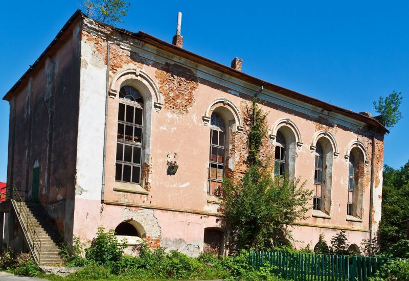
[[402, 118], [399, 106], [403, 97], [401, 92], [393, 91], [388, 97], [379, 97], [378, 102], [373, 101], [376, 112], [380, 114], [378, 121], [385, 127], [392, 128]]

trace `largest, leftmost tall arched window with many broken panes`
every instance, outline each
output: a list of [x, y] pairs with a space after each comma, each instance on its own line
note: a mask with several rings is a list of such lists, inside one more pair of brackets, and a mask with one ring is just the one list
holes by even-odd
[[141, 182], [143, 106], [141, 93], [124, 86], [119, 91], [115, 180]]

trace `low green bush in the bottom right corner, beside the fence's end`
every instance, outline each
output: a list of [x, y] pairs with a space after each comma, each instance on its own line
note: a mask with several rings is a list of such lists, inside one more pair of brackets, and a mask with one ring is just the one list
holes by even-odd
[[368, 281], [407, 281], [409, 280], [409, 260], [391, 260], [385, 263]]

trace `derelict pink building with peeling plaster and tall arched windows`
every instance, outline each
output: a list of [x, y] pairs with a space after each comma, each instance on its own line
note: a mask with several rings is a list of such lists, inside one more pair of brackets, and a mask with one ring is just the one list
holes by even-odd
[[[168, 43], [75, 12], [4, 97], [7, 184], [25, 201], [0, 208], [9, 212], [8, 246], [41, 247], [42, 262], [52, 262], [53, 236], [89, 244], [103, 226], [130, 246], [144, 240], [191, 256], [223, 254], [215, 191], [223, 177], [237, 182], [246, 170], [256, 96], [268, 112], [265, 159], [276, 175], [313, 190], [309, 218], [290, 226], [289, 243], [313, 248], [339, 230], [351, 247], [374, 237], [388, 130], [369, 113], [241, 68], [238, 58], [225, 66], [183, 49], [180, 21]], [[24, 226], [25, 212], [34, 230]]]

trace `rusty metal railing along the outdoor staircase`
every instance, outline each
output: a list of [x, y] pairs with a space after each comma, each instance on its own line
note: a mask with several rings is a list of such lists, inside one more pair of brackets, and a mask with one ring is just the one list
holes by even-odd
[[[29, 216], [29, 211], [14, 184], [7, 186], [7, 199], [11, 199], [14, 211], [18, 221], [23, 229], [24, 236], [28, 242], [34, 260], [40, 263], [41, 257], [41, 240], [35, 231], [34, 223]], [[24, 196], [27, 199], [27, 196]]]

